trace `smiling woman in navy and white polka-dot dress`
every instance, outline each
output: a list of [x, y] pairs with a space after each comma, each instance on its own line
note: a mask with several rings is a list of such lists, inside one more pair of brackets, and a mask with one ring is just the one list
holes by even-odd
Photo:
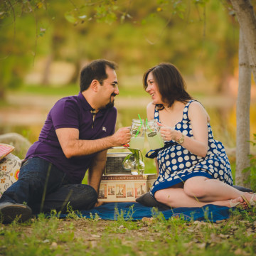
[[228, 156], [221, 142], [213, 139], [210, 118], [201, 103], [185, 90], [178, 69], [161, 63], [144, 74], [144, 88], [152, 102], [147, 118], [161, 126], [165, 146], [149, 151], [159, 174], [151, 187], [157, 201], [177, 207], [255, 205], [255, 194], [233, 188]]

